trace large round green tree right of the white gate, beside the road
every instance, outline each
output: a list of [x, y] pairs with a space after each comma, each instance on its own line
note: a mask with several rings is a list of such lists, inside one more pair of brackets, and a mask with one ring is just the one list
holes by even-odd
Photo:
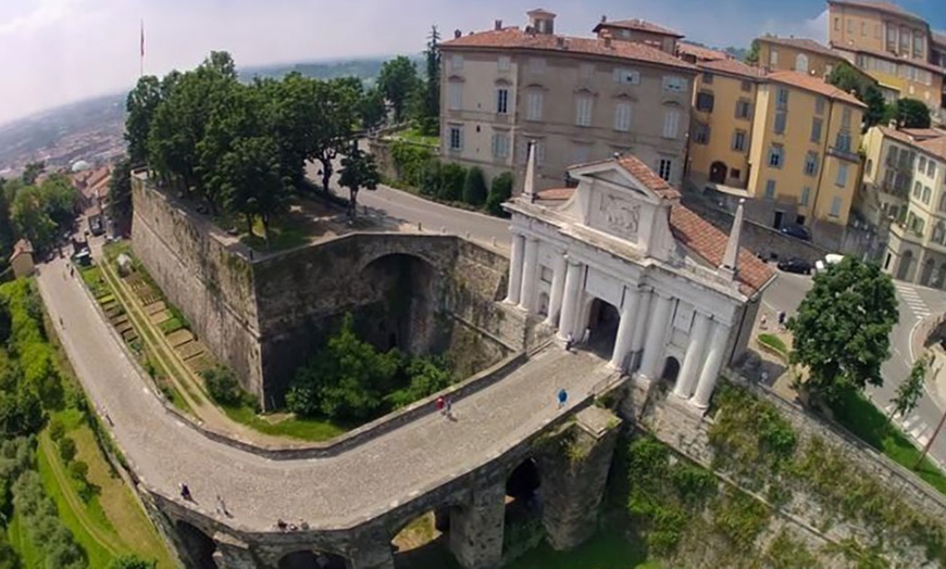
[[876, 265], [847, 256], [816, 275], [787, 324], [791, 362], [809, 370], [806, 391], [830, 402], [845, 391], [883, 384], [881, 364], [889, 357], [898, 318], [893, 281]]

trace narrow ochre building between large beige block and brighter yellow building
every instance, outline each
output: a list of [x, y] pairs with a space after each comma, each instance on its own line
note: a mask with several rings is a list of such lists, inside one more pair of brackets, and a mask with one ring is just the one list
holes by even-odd
[[692, 110], [688, 178], [729, 192], [749, 177], [752, 109], [762, 71], [736, 60], [697, 63]]

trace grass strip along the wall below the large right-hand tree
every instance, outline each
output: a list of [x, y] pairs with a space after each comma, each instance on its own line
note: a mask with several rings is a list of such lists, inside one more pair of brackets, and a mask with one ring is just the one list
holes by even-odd
[[917, 459], [920, 458], [920, 451], [863, 395], [845, 394], [841, 401], [831, 406], [831, 409], [834, 412], [835, 420], [848, 431], [946, 494], [946, 475], [929, 458], [924, 458], [917, 468], [913, 468]]

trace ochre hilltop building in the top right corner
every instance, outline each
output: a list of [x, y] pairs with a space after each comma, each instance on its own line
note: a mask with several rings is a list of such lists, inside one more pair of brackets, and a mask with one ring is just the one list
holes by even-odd
[[930, 25], [891, 2], [829, 0], [831, 47], [873, 77], [888, 98], [923, 101], [946, 121], [944, 50]]

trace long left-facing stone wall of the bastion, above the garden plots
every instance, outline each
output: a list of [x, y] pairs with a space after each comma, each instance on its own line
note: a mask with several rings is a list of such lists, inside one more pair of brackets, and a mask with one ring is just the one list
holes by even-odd
[[181, 308], [191, 331], [225, 362], [247, 391], [262, 393], [260, 326], [252, 265], [224, 244], [209, 220], [132, 177], [132, 249]]

